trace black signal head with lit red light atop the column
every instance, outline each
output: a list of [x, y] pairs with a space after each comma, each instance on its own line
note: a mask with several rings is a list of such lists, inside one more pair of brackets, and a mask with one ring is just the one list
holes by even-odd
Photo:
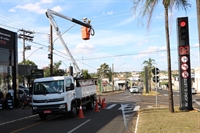
[[189, 45], [188, 17], [177, 18], [178, 46]]

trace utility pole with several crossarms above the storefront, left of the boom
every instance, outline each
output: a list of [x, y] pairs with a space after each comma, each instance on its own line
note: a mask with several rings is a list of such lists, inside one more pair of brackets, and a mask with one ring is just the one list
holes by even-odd
[[33, 31], [27, 31], [27, 30], [24, 30], [24, 29], [20, 29], [19, 31], [22, 32], [22, 34], [20, 33], [18, 35], [18, 38], [23, 39], [23, 55], [22, 56], [23, 56], [23, 64], [25, 65], [25, 51], [31, 49], [31, 46], [25, 46], [25, 41], [32, 42], [34, 36], [31, 36], [31, 34], [34, 34], [34, 32]]

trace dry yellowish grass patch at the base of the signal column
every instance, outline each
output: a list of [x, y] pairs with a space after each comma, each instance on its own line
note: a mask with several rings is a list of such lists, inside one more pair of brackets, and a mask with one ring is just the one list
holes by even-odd
[[138, 114], [137, 133], [200, 133], [200, 112], [196, 110], [181, 112], [175, 108], [170, 113], [168, 108], [152, 108]]

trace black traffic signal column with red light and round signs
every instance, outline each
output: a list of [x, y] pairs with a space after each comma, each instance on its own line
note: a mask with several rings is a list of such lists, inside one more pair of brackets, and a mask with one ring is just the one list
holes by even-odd
[[193, 110], [188, 17], [177, 18], [180, 110]]

